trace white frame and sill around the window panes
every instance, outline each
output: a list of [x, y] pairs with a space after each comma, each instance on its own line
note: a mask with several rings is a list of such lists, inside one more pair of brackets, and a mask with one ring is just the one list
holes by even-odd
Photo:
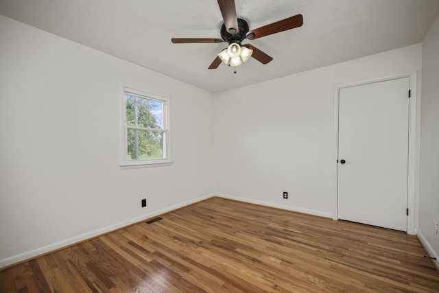
[[[145, 91], [139, 91], [125, 86], [122, 87], [121, 91], [121, 163], [119, 166], [121, 169], [133, 169], [133, 168], [143, 168], [143, 167], [157, 167], [163, 165], [171, 165], [171, 148], [170, 148], [170, 129], [169, 129], [169, 108], [170, 99], [169, 97], [163, 97], [159, 95], [154, 95], [151, 93], [146, 93]], [[126, 94], [132, 94], [137, 97], [142, 97], [145, 99], [150, 99], [156, 102], [163, 103], [163, 128], [142, 128], [142, 130], [160, 130], [163, 132], [163, 159], [142, 159], [128, 161], [128, 126], [126, 123]]]

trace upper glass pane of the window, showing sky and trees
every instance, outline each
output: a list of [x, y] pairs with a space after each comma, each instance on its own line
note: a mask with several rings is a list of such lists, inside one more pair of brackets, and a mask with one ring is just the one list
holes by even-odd
[[126, 123], [128, 126], [163, 128], [163, 102], [127, 93]]

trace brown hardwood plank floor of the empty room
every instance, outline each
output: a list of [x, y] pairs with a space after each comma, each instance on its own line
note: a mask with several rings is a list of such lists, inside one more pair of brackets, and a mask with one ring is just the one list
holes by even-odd
[[439, 292], [417, 238], [211, 198], [0, 272], [0, 292]]

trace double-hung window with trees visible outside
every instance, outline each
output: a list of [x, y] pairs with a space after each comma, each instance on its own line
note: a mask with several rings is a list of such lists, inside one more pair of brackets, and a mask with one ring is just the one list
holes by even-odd
[[169, 161], [169, 100], [138, 91], [124, 91], [125, 145], [122, 165], [151, 165]]

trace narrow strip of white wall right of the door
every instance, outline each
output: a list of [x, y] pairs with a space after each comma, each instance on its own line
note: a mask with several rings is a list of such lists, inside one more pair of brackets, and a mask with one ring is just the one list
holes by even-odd
[[423, 40], [422, 95], [418, 235], [439, 266], [439, 16]]

